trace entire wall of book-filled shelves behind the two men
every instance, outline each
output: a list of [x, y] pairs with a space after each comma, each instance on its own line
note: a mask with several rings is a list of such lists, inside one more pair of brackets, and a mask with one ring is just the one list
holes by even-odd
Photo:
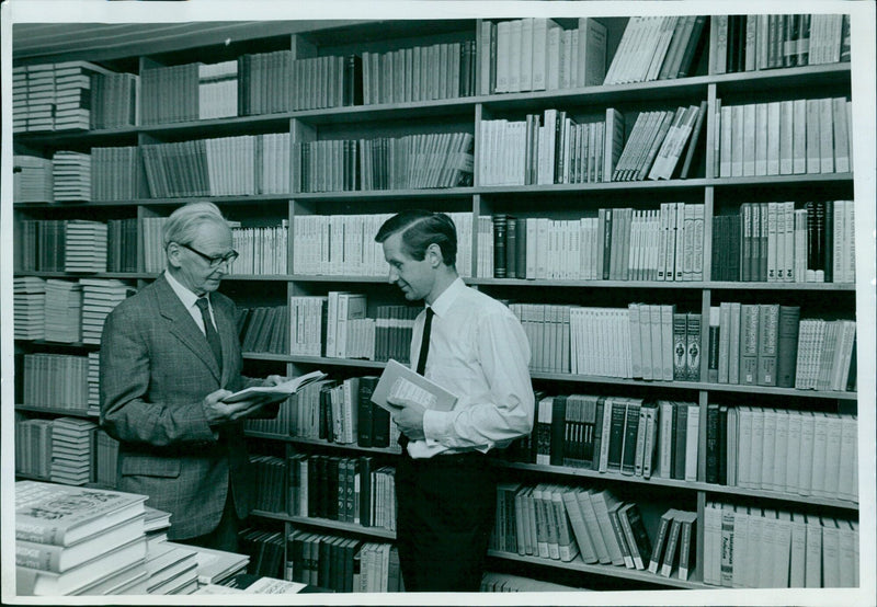
[[[258, 506], [228, 571], [402, 589], [398, 431], [371, 394], [419, 309], [374, 234], [418, 207], [532, 350], [483, 592], [858, 586], [850, 15], [228, 26], [13, 57], [16, 507], [116, 486], [103, 322], [163, 270], [170, 213], [212, 201], [246, 374], [328, 374], [247, 422]], [[112, 575], [91, 536], [16, 519], [19, 579], [228, 577], [128, 509]]]

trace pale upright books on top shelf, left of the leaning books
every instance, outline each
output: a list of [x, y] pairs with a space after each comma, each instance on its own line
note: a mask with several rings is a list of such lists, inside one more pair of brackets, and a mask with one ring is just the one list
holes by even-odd
[[551, 91], [603, 83], [606, 27], [581, 18], [563, 28], [547, 18], [481, 22], [482, 95]]

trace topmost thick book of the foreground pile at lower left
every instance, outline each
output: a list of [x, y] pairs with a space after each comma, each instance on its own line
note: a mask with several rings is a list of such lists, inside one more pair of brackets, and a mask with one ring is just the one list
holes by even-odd
[[15, 539], [70, 546], [144, 513], [146, 495], [38, 481], [15, 483]]

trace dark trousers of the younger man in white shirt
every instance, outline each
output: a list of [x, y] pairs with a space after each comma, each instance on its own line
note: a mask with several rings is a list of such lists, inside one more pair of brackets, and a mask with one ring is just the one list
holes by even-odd
[[396, 468], [397, 545], [407, 592], [478, 592], [497, 509], [496, 472], [470, 453]]

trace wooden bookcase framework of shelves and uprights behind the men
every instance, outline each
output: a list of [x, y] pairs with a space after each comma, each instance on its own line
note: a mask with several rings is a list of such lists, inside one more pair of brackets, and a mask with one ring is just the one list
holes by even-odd
[[[271, 54], [288, 50], [293, 60], [317, 57], [346, 57], [364, 53], [386, 54], [399, 49], [426, 48], [432, 45], [464, 45], [471, 43], [480, 53], [490, 48], [486, 39], [490, 24], [499, 25], [511, 20], [448, 20], [430, 22], [362, 22], [337, 24], [315, 24], [310, 31], [301, 31], [295, 23], [288, 27], [276, 24], [270, 32], [257, 25], [241, 25], [237, 42], [223, 46], [217, 51], [220, 38], [204, 33], [202, 42], [194, 47], [184, 46], [169, 38], [166, 45], [121, 47], [114, 53], [101, 53], [93, 60], [103, 67], [139, 73], [156, 68], [187, 66], [193, 61], [218, 62], [234, 60], [244, 55]], [[600, 18], [606, 27], [607, 67], [622, 45], [627, 18]], [[559, 26], [570, 31], [577, 27], [576, 20], [559, 19]], [[718, 236], [714, 233], [713, 220], [720, 216], [739, 213], [742, 202], [768, 203], [794, 201], [802, 204], [818, 201], [852, 201], [854, 179], [852, 172], [799, 173], [774, 175], [719, 176], [718, 167], [721, 126], [718, 124], [720, 107], [743, 104], [767, 104], [777, 101], [793, 101], [810, 98], [846, 98], [851, 95], [851, 67], [848, 61], [824, 65], [799, 65], [776, 69], [720, 72], [715, 68], [719, 53], [718, 41], [711, 38], [711, 21], [706, 20], [704, 47], [696, 53], [688, 76], [676, 79], [622, 82], [614, 84], [576, 84], [553, 90], [528, 90], [506, 93], [490, 93], [490, 73], [479, 58], [467, 69], [475, 70], [467, 81], [471, 87], [469, 94], [451, 99], [422, 99], [419, 101], [385, 101], [372, 104], [354, 104], [332, 107], [309, 107], [292, 110], [282, 107], [260, 115], [231, 115], [223, 118], [194, 119], [191, 115], [179, 122], [157, 119], [144, 121], [123, 127], [94, 130], [18, 131], [15, 153], [35, 154], [52, 158], [61, 150], [89, 151], [92, 148], [127, 146], [140, 151], [152, 145], [185, 145], [207, 138], [243, 138], [288, 135], [291, 146], [335, 140], [371, 140], [380, 138], [401, 138], [421, 135], [464, 134], [471, 138], [474, 150], [479, 150], [487, 141], [482, 139], [480, 126], [490, 121], [523, 121], [527, 115], [544, 116], [546, 110], [566, 112], [579, 124], [605, 119], [606, 108], [615, 108], [625, 118], [625, 140], [629, 140], [636, 118], [646, 112], [671, 112], [676, 107], [706, 103], [704, 126], [698, 147], [695, 148], [692, 170], [686, 179], [674, 176], [669, 180], [640, 181], [590, 181], [586, 183], [538, 183], [529, 185], [483, 185], [478, 154], [474, 154], [475, 167], [471, 184], [462, 173], [460, 179], [448, 182], [448, 187], [423, 188], [406, 185], [399, 188], [351, 191], [296, 192], [291, 175], [286, 187], [278, 192], [262, 193], [253, 186], [250, 194], [195, 196], [184, 190], [184, 195], [172, 197], [150, 197], [145, 193], [133, 198], [81, 201], [64, 205], [46, 202], [16, 203], [14, 206], [16, 224], [25, 220], [52, 219], [135, 219], [167, 217], [171, 210], [194, 199], [210, 199], [223, 208], [226, 216], [239, 221], [242, 227], [259, 228], [288, 222], [289, 244], [285, 254], [287, 273], [284, 274], [231, 274], [223, 284], [221, 290], [232, 297], [239, 307], [285, 306], [291, 297], [324, 297], [329, 291], [350, 290], [364, 293], [368, 297], [367, 314], [374, 318], [378, 306], [399, 304], [394, 287], [386, 284], [384, 276], [357, 274], [317, 274], [298, 272], [295, 260], [293, 232], [297, 221], [303, 218], [331, 219], [338, 216], [375, 216], [390, 214], [407, 206], [419, 206], [434, 210], [468, 215], [471, 218], [469, 264], [459, 267], [466, 282], [493, 297], [527, 304], [545, 304], [571, 307], [578, 301], [588, 300], [589, 306], [606, 308], [627, 308], [634, 301], [645, 300], [649, 305], [673, 305], [680, 312], [699, 314], [701, 330], [696, 345], [701, 358], [696, 370], [699, 379], [693, 380], [650, 380], [631, 377], [557, 373], [555, 370], [534, 370], [534, 387], [547, 396], [556, 394], [603, 394], [634, 397], [646, 400], [669, 399], [685, 401], [699, 408], [702, 414], [696, 430], [697, 480], [682, 480], [652, 476], [643, 479], [616, 472], [600, 472], [582, 467], [548, 466], [533, 462], [498, 460], [504, 479], [521, 482], [560, 482], [579, 486], [596, 486], [618, 491], [619, 495], [645, 492], [654, 494], [658, 507], [648, 508], [646, 527], [654, 538], [657, 525], [663, 509], [672, 505], [694, 511], [698, 515], [693, 540], [694, 568], [687, 580], [664, 577], [649, 572], [603, 564], [588, 564], [579, 560], [559, 562], [492, 550], [491, 559], [514, 566], [540, 564], [539, 575], [551, 579], [551, 570], [562, 569], [581, 574], [581, 585], [592, 577], [614, 579], [623, 585], [625, 581], [636, 581], [658, 587], [713, 588], [720, 584], [704, 582], [705, 563], [711, 559], [706, 553], [704, 514], [710, 501], [734, 502], [752, 507], [787, 508], [791, 511], [828, 513], [843, 519], [857, 519], [858, 504], [855, 500], [834, 499], [824, 495], [806, 495], [784, 490], [740, 488], [705, 482], [707, 473], [707, 405], [717, 403], [727, 408], [739, 404], [740, 400], [752, 406], [778, 408], [788, 411], [808, 411], [819, 414], [856, 413], [858, 398], [855, 389], [850, 390], [801, 390], [794, 387], [759, 386], [744, 383], [719, 383], [707, 380], [709, 371], [710, 333], [708, 322], [710, 309], [722, 302], [745, 305], [778, 304], [798, 306], [801, 318], [822, 318], [836, 320], [855, 317], [855, 283], [831, 282], [753, 282], [717, 280], [711, 275], [710, 261], [719, 250]], [[570, 43], [571, 44], [571, 43]], [[445, 50], [447, 53], [447, 50]], [[412, 50], [413, 54], [413, 50]], [[425, 55], [425, 51], [424, 51]], [[405, 60], [405, 55], [401, 55]], [[42, 58], [39, 62], [61, 61], [65, 58]], [[409, 60], [410, 62], [410, 60]], [[34, 60], [21, 58], [18, 66], [36, 65]], [[403, 64], [409, 65], [409, 64]], [[449, 64], [448, 64], [449, 65]], [[487, 64], [490, 65], [489, 61]], [[158, 70], [162, 71], [162, 70]], [[164, 70], [167, 71], [167, 70]], [[190, 70], [191, 71], [191, 70]], [[724, 70], [721, 70], [724, 71]], [[414, 84], [406, 82], [395, 72], [397, 87], [405, 90]], [[413, 72], [412, 72], [413, 73]], [[442, 72], [444, 75], [444, 72]], [[448, 73], [454, 73], [453, 70]], [[392, 72], [387, 72], [392, 78]], [[386, 76], [386, 75], [385, 75]], [[425, 78], [425, 77], [424, 77]], [[442, 76], [446, 81], [448, 75]], [[143, 79], [140, 82], [144, 85]], [[448, 85], [445, 82], [446, 85]], [[462, 82], [460, 82], [462, 84]], [[189, 94], [178, 93], [180, 102], [192, 100], [191, 83]], [[255, 87], [253, 82], [238, 82], [239, 98], [243, 99], [244, 87]], [[197, 88], [197, 84], [195, 84]], [[249, 90], [249, 89], [248, 89]], [[253, 89], [254, 90], [254, 89]], [[816, 93], [815, 91], [819, 91]], [[252, 92], [252, 91], [251, 91]], [[273, 91], [272, 91], [273, 92]], [[253, 93], [254, 94], [254, 93]], [[405, 96], [405, 95], [403, 95]], [[271, 98], [269, 98], [271, 99]], [[402, 99], [402, 98], [400, 98]], [[263, 100], [264, 101], [264, 100]], [[162, 111], [169, 111], [167, 107]], [[852, 129], [851, 129], [852, 133]], [[304, 147], [301, 148], [304, 149]], [[315, 148], [316, 149], [316, 148]], [[464, 150], [465, 151], [465, 150]], [[316, 152], [315, 152], [316, 153]], [[364, 156], [360, 157], [360, 162]], [[187, 161], [181, 161], [187, 162]], [[197, 162], [197, 161], [195, 161]], [[331, 162], [330, 162], [331, 164]], [[173, 167], [173, 162], [168, 164]], [[182, 164], [192, 169], [191, 164]], [[295, 164], [293, 164], [295, 167]], [[340, 167], [343, 169], [343, 165]], [[170, 169], [169, 169], [170, 170]], [[289, 171], [296, 173], [296, 169]], [[464, 172], [465, 173], [465, 172]], [[180, 173], [178, 177], [185, 175]], [[277, 175], [274, 175], [275, 177]], [[283, 175], [281, 175], [283, 176]], [[555, 181], [555, 180], [550, 180]], [[191, 185], [191, 184], [190, 184]], [[355, 183], [353, 184], [355, 185]], [[148, 190], [147, 190], [148, 191]], [[498, 214], [506, 214], [520, 219], [544, 219], [571, 221], [583, 217], [596, 217], [597, 208], [619, 209], [631, 207], [639, 211], [657, 210], [662, 203], [684, 203], [702, 205], [704, 209], [704, 238], [702, 245], [703, 277], [694, 280], [628, 280], [628, 279], [572, 279], [572, 278], [521, 278], [494, 277], [493, 272], [483, 272], [479, 260], [485, 254], [482, 245], [490, 244], [492, 232], [478, 229], [480, 219], [491, 220]], [[143, 224], [141, 224], [143, 225]], [[467, 232], [468, 233], [468, 232]], [[366, 242], [369, 234], [365, 234]], [[44, 270], [16, 270], [16, 277], [77, 280], [79, 277], [118, 279], [139, 287], [152, 280], [157, 273], [147, 268], [144, 249], [147, 244], [143, 232], [132, 247], [136, 248], [136, 272], [98, 272], [87, 275]], [[490, 241], [490, 242], [487, 242]], [[488, 249], [483, 249], [486, 251]], [[492, 255], [492, 252], [489, 253]], [[19, 268], [20, 266], [16, 266]], [[45, 340], [16, 340], [15, 352], [19, 359], [24, 355], [43, 351], [91, 351], [94, 346], [81, 343], [57, 344]], [[378, 375], [384, 367], [379, 360], [338, 358], [327, 356], [291, 355], [265, 352], [244, 352], [244, 366], [250, 375], [267, 373], [298, 374], [321, 368], [337, 379]], [[538, 402], [538, 401], [537, 401]], [[47, 410], [30, 405], [16, 405], [22, 413], [67, 414], [64, 410]], [[283, 457], [295, 454], [338, 454], [358, 457], [374, 455], [376, 461], [391, 463], [396, 457], [391, 448], [358, 447], [353, 444], [339, 444], [323, 439], [284, 436], [273, 433], [251, 431], [248, 433], [251, 451], [260, 449], [281, 453]], [[672, 493], [672, 497], [671, 494]], [[633, 501], [639, 501], [633, 499]], [[651, 512], [654, 511], [654, 512]], [[659, 512], [660, 511], [660, 512]], [[257, 511], [253, 516], [274, 523], [282, 523], [288, 534], [293, 529], [338, 530], [354, 536], [361, 535], [378, 540], [391, 540], [394, 535], [384, 529], [362, 527], [338, 520], [289, 516], [287, 514]]]

